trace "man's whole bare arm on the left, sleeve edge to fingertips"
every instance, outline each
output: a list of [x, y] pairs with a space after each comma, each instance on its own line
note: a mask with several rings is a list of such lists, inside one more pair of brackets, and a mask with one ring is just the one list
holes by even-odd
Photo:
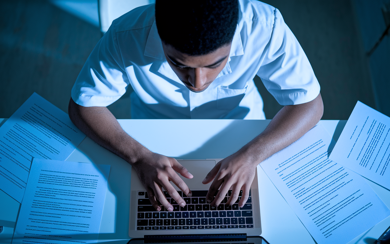
[[168, 211], [173, 211], [173, 207], [165, 198], [161, 187], [179, 205], [182, 207], [186, 205], [169, 181], [175, 183], [184, 194], [191, 196], [190, 189], [175, 171], [186, 178], [192, 178], [193, 176], [176, 159], [153, 153], [142, 146], [124, 132], [121, 125], [106, 107], [83, 107], [71, 98], [68, 112], [74, 125], [88, 137], [135, 167], [156, 210], [161, 210], [156, 201], [158, 200]]

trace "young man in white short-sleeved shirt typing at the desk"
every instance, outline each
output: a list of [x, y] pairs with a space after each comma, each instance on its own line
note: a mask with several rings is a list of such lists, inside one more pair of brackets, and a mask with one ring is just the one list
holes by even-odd
[[[158, 200], [172, 211], [161, 187], [184, 206], [169, 181], [190, 196], [177, 173], [192, 175], [175, 159], [149, 151], [126, 134], [106, 106], [130, 84], [132, 118], [265, 119], [255, 75], [285, 107], [264, 132], [220, 161], [203, 181], [213, 181], [206, 197], [212, 205], [219, 205], [232, 188], [227, 204], [242, 189], [243, 206], [255, 167], [299, 139], [323, 114], [310, 63], [274, 7], [250, 0], [157, 0], [124, 14], [113, 21], [80, 72], [69, 116], [90, 138], [135, 167], [157, 210]], [[199, 130], [188, 128], [190, 133]]]

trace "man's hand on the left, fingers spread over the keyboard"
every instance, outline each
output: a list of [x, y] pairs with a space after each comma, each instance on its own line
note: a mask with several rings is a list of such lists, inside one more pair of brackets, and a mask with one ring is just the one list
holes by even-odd
[[181, 207], [186, 205], [186, 202], [181, 198], [169, 181], [172, 181], [177, 185], [186, 196], [192, 196], [190, 189], [177, 173], [180, 173], [188, 179], [191, 179], [193, 176], [174, 158], [151, 152], [148, 155], [145, 155], [139, 162], [133, 164], [133, 167], [135, 167], [138, 177], [145, 186], [150, 202], [157, 211], [161, 210], [158, 201], [160, 201], [161, 205], [168, 211], [173, 211], [173, 206], [167, 201], [167, 198], [165, 198], [161, 187], [163, 187], [165, 191], [168, 192], [169, 196], [171, 196]]

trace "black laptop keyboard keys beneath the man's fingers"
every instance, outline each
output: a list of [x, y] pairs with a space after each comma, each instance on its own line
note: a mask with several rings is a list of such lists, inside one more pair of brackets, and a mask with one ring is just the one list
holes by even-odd
[[232, 206], [227, 206], [231, 190], [226, 194], [225, 199], [218, 207], [211, 207], [206, 201], [207, 191], [192, 191], [192, 197], [187, 197], [178, 191], [183, 197], [186, 206], [180, 207], [167, 192], [164, 192], [167, 200], [172, 204], [174, 210], [167, 212], [161, 206], [161, 211], [156, 211], [151, 205], [147, 193], [138, 191], [137, 203], [137, 230], [199, 230], [199, 229], [235, 229], [254, 228], [252, 196], [245, 205], [240, 208], [239, 198]]

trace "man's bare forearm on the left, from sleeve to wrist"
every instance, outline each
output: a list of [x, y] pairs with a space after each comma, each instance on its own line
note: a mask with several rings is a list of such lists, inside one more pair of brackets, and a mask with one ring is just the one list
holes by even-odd
[[83, 107], [71, 98], [68, 112], [71, 121], [84, 134], [132, 165], [150, 152], [124, 132], [106, 107]]

